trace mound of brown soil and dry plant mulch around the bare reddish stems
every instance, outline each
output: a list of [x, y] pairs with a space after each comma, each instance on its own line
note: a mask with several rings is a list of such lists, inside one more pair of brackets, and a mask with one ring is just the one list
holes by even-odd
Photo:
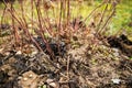
[[42, 37], [34, 40], [44, 52], [29, 42], [22, 51], [13, 48], [12, 40], [1, 44], [0, 88], [132, 87], [132, 42], [123, 34], [100, 40], [91, 28], [78, 30], [70, 42], [50, 42], [54, 58]]

